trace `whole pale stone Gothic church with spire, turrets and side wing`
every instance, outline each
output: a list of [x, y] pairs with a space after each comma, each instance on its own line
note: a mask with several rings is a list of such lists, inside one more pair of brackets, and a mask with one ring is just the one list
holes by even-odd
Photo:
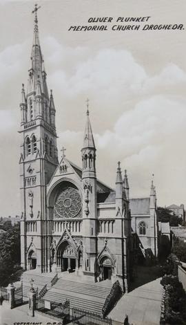
[[122, 175], [119, 162], [113, 171], [115, 189], [97, 178], [99, 157], [88, 104], [81, 168], [68, 160], [64, 148], [59, 161], [56, 108], [46, 77], [35, 10], [28, 91], [23, 85], [20, 104], [21, 266], [89, 275], [95, 282], [121, 279], [127, 290], [133, 233], [141, 248], [157, 256], [154, 185], [150, 198], [139, 203], [130, 200], [127, 173]]

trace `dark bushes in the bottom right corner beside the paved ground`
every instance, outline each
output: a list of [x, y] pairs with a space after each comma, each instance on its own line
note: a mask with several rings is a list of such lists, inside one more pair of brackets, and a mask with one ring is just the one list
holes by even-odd
[[186, 294], [178, 277], [167, 275], [161, 280], [165, 289], [165, 315], [161, 323], [185, 324], [186, 322]]

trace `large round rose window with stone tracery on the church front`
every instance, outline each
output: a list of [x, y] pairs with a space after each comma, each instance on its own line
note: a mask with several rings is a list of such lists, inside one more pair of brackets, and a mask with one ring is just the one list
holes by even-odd
[[81, 197], [77, 189], [66, 187], [56, 199], [54, 206], [57, 218], [74, 218], [81, 211]]

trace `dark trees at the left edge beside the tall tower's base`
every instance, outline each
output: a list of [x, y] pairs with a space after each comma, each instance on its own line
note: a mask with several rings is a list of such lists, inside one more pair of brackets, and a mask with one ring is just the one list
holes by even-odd
[[20, 225], [9, 226], [0, 240], [0, 286], [7, 286], [20, 269]]

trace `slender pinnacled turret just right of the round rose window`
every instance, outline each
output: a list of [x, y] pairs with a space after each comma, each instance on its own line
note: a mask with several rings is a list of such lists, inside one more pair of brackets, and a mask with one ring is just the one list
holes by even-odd
[[85, 124], [85, 135], [83, 148], [81, 149], [83, 170], [83, 247], [84, 272], [93, 275], [95, 273], [96, 258], [96, 147], [92, 134], [87, 104], [87, 120]]

